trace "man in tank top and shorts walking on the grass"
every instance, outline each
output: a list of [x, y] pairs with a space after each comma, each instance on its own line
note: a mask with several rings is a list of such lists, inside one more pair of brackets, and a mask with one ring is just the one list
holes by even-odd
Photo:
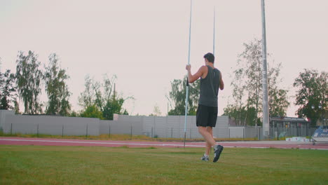
[[224, 89], [221, 72], [214, 68], [214, 55], [207, 53], [204, 55], [205, 65], [200, 67], [196, 74], [191, 74], [191, 65], [186, 65], [188, 71], [188, 81], [193, 83], [200, 78], [200, 97], [198, 100], [198, 109], [196, 114], [196, 125], [198, 132], [206, 141], [205, 154], [201, 160], [208, 161], [210, 149], [213, 146], [213, 162], [217, 162], [221, 155], [223, 146], [217, 144], [213, 139], [212, 128], [217, 123], [217, 95], [219, 88]]

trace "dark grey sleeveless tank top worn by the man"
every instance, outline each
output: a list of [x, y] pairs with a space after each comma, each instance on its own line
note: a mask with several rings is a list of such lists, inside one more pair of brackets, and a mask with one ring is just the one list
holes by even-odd
[[200, 78], [200, 97], [198, 104], [217, 107], [217, 95], [220, 86], [220, 71], [207, 65], [207, 76]]

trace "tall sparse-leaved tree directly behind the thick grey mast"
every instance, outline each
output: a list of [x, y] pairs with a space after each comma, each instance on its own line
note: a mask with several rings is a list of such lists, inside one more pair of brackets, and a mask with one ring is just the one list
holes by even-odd
[[[244, 43], [245, 50], [238, 55], [237, 68], [233, 71], [233, 104], [228, 104], [224, 114], [231, 116], [238, 125], [261, 125], [262, 112], [262, 55], [261, 40]], [[272, 65], [271, 65], [272, 64]], [[285, 116], [289, 107], [287, 90], [278, 88], [281, 64], [268, 64], [268, 97], [271, 116]], [[272, 66], [272, 67], [271, 67]], [[252, 123], [252, 121], [254, 121]], [[259, 123], [259, 124], [258, 124]]]

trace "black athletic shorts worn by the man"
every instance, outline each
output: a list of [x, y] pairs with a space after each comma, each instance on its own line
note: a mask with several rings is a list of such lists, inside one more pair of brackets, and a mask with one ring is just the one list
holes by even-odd
[[198, 104], [196, 125], [198, 127], [215, 127], [217, 124], [217, 107]]

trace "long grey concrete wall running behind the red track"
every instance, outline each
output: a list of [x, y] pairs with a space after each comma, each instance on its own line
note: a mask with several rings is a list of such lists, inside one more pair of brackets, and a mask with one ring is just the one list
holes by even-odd
[[[149, 137], [184, 138], [184, 116], [126, 116], [114, 115], [114, 121], [98, 118], [62, 116], [15, 115], [13, 111], [0, 110], [0, 128], [5, 133], [46, 135], [100, 135], [125, 134]], [[271, 128], [271, 136], [286, 132], [286, 136], [313, 135], [315, 129]], [[298, 134], [297, 134], [298, 133]], [[213, 128], [215, 138], [263, 139], [260, 127], [229, 127], [228, 116], [218, 116]], [[202, 138], [196, 127], [196, 116], [187, 116], [186, 138]]]

